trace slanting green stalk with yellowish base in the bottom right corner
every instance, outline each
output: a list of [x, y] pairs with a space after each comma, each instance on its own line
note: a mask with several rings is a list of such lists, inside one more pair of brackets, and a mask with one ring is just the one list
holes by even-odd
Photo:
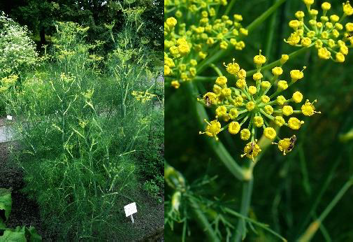
[[343, 197], [343, 195], [345, 194], [345, 192], [347, 192], [347, 190], [353, 185], [353, 176], [347, 180], [347, 182], [345, 183], [345, 185], [343, 185], [343, 187], [341, 188], [341, 190], [336, 194], [336, 197], [334, 197], [332, 199], [332, 201], [330, 202], [330, 204], [325, 208], [324, 212], [322, 212], [322, 214], [319, 216], [319, 218], [317, 218], [317, 220], [315, 220], [314, 222], [312, 222], [308, 229], [306, 229], [306, 231], [304, 232], [303, 235], [301, 235], [298, 239], [299, 242], [306, 242], [306, 241], [310, 241], [312, 239], [312, 237], [315, 235], [315, 233], [317, 232], [317, 229], [319, 229], [322, 221], [324, 221], [324, 219], [326, 218], [326, 216], [331, 212], [332, 208], [334, 206], [336, 206], [336, 204], [338, 203], [338, 201], [340, 201], [340, 199]]

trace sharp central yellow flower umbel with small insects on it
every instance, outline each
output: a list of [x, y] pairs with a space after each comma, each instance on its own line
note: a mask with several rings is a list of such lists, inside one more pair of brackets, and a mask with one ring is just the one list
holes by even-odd
[[[278, 148], [286, 155], [294, 147], [296, 137], [291, 138], [278, 138], [274, 127], [287, 126], [291, 129], [299, 129], [304, 123], [302, 120], [298, 120], [295, 117], [289, 117], [293, 114], [302, 113], [306, 116], [311, 116], [315, 111], [313, 105], [315, 101], [305, 101], [305, 104], [301, 106], [301, 110], [294, 110], [290, 103], [299, 104], [303, 100], [303, 94], [301, 92], [294, 92], [291, 98], [286, 99], [280, 95], [281, 92], [287, 90], [288, 87], [296, 83], [298, 80], [303, 78], [303, 70], [292, 70], [290, 71], [290, 81], [287, 83], [286, 80], [278, 80], [282, 75], [282, 64], [287, 62], [289, 59], [288, 55], [282, 55], [280, 60], [280, 66], [276, 66], [272, 69], [273, 76], [271, 80], [264, 80], [261, 73], [261, 66], [266, 62], [266, 57], [260, 54], [254, 57], [254, 64], [257, 66], [257, 73], [252, 76], [252, 83], [254, 85], [247, 85], [245, 80], [246, 72], [244, 69], [240, 69], [240, 66], [234, 62], [227, 64], [226, 71], [230, 73], [236, 79], [236, 87], [229, 87], [227, 85], [227, 78], [225, 76], [219, 76], [215, 80], [212, 92], [207, 92], [203, 95], [203, 99], [199, 100], [206, 106], [215, 107], [215, 120], [207, 122], [206, 131], [200, 134], [206, 134], [211, 137], [215, 137], [217, 134], [224, 129], [228, 129], [231, 134], [240, 134], [240, 138], [244, 141], [250, 139], [250, 143], [247, 143], [244, 148], [243, 156], [254, 159], [261, 149], [257, 144], [257, 134], [259, 129], [263, 129], [263, 134], [266, 138], [273, 141], [275, 138], [279, 140]], [[304, 67], [305, 69], [305, 67]], [[268, 92], [272, 88], [272, 94]], [[287, 121], [285, 118], [289, 118]], [[227, 122], [222, 127], [220, 120]], [[247, 124], [245, 124], [247, 123]]]

